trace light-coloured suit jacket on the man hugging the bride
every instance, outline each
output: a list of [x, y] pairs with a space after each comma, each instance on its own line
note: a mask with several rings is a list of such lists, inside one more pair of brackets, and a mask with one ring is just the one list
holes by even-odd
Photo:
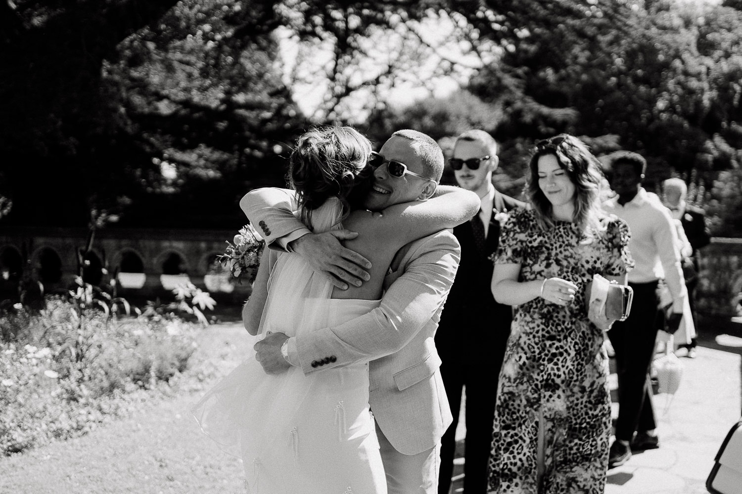
[[[304, 227], [291, 193], [253, 190], [240, 207], [274, 247]], [[379, 307], [296, 338], [305, 374], [370, 360], [371, 410], [393, 447], [407, 455], [436, 446], [453, 420], [434, 337], [459, 256], [459, 242], [447, 230], [410, 242], [384, 279]]]

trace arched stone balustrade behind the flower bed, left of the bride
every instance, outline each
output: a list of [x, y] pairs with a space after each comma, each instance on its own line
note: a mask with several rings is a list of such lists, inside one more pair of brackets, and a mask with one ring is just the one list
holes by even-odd
[[[99, 230], [86, 276], [93, 284], [111, 284], [115, 276], [122, 296], [162, 296], [188, 280], [209, 293], [244, 300], [250, 285], [231, 282], [227, 273], [212, 267], [214, 258], [224, 252], [225, 241], [236, 234], [237, 229]], [[47, 293], [68, 287], [78, 274], [76, 252], [84, 247], [87, 235], [85, 229], [69, 228], [0, 230], [0, 299], [17, 293], [22, 276], [41, 281]], [[24, 259], [27, 264], [22, 265]]]

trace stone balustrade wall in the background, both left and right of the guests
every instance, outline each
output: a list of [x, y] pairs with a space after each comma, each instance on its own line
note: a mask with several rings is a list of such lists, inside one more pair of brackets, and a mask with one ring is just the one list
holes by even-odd
[[[229, 276], [209, 270], [214, 256], [224, 252], [225, 241], [231, 241], [236, 233], [103, 229], [96, 233], [91, 264], [99, 261], [105, 270], [102, 284], [116, 274], [124, 296], [160, 296], [187, 278], [209, 293], [232, 294], [234, 300], [244, 300], [250, 293], [249, 284], [234, 284]], [[25, 269], [32, 278], [43, 281], [45, 290], [67, 287], [77, 274], [76, 250], [83, 246], [86, 236], [85, 229], [0, 230], [0, 299], [17, 293], [19, 275], [13, 264], [22, 258], [28, 258], [30, 264]], [[48, 267], [49, 258], [53, 260], [54, 256], [59, 260], [59, 279], [54, 279], [54, 269]], [[139, 273], [120, 273], [122, 260], [127, 257], [141, 261]], [[701, 250], [699, 278], [698, 313], [719, 318], [737, 316], [742, 292], [742, 238], [712, 238], [712, 243]]]

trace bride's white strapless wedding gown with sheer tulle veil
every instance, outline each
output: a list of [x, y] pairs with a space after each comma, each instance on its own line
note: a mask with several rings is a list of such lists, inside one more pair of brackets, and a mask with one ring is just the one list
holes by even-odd
[[[326, 201], [312, 214], [315, 232], [339, 215], [339, 202]], [[332, 284], [297, 254], [279, 257], [268, 286], [261, 335], [335, 326], [379, 304], [329, 298]], [[367, 362], [266, 375], [253, 353], [193, 413], [223, 450], [243, 459], [249, 494], [385, 494], [368, 388]]]

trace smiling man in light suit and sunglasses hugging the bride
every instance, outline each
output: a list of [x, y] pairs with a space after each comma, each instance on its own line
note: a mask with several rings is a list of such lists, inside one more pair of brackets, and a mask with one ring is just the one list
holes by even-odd
[[[407, 152], [400, 153], [401, 149]], [[394, 133], [380, 154], [404, 162], [418, 175], [436, 182], [441, 178], [443, 154], [422, 133]], [[407, 156], [404, 161], [403, 156]], [[429, 197], [423, 181], [391, 176], [387, 163], [373, 177], [364, 202], [369, 210]], [[306, 258], [315, 270], [335, 277], [337, 286], [367, 279], [356, 264], [364, 258], [338, 242], [355, 234], [347, 230], [309, 233], [293, 215], [295, 204], [288, 204], [286, 197], [276, 190], [254, 190], [243, 197], [240, 207], [262, 230], [269, 246], [276, 248], [283, 241], [287, 250]], [[450, 231], [410, 242], [395, 256], [384, 279], [381, 304], [370, 313], [298, 337], [273, 333], [255, 345], [267, 373], [283, 372], [289, 364], [312, 373], [371, 360], [369, 401], [390, 494], [437, 493], [440, 438], [452, 417], [434, 335], [458, 265], [459, 242]]]

